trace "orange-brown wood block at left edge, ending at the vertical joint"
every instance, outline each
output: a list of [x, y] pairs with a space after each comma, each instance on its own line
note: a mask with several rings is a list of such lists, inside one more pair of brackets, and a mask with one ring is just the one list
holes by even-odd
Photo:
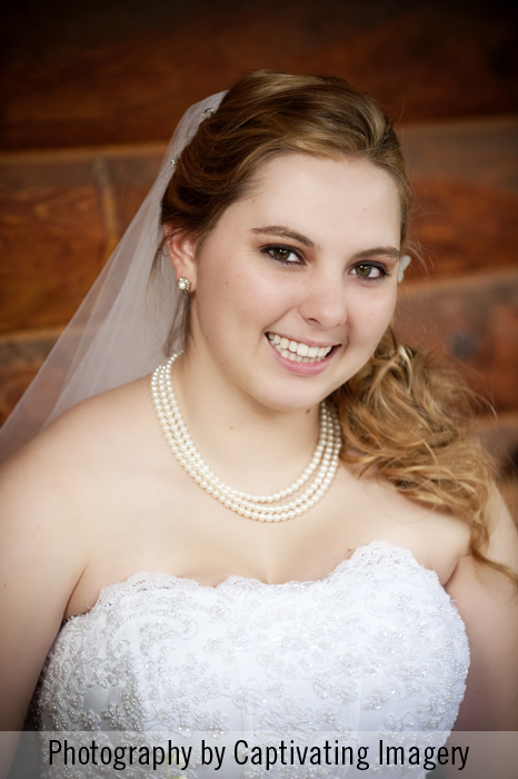
[[0, 207], [0, 332], [68, 319], [101, 268], [94, 188], [31, 187]]

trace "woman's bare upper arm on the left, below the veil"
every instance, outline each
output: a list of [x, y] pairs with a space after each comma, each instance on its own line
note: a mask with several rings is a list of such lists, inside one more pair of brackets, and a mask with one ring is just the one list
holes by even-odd
[[0, 473], [0, 730], [23, 726], [84, 565], [69, 474], [64, 455], [40, 444]]

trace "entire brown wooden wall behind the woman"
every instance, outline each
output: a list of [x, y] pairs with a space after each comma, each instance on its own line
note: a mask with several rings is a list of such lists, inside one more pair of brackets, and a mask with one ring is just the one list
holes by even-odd
[[[19, 0], [0, 71], [0, 421], [196, 100], [257, 67], [331, 72], [397, 122], [416, 187], [399, 305], [495, 403], [480, 431], [518, 515], [518, 14], [425, 0]], [[515, 501], [515, 503], [514, 503]]]

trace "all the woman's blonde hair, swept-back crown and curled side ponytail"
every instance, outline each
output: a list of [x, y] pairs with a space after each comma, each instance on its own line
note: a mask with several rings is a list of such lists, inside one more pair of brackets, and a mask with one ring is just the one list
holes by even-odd
[[[225, 209], [253, 186], [261, 164], [292, 152], [346, 156], [386, 170], [399, 194], [405, 246], [411, 189], [394, 127], [376, 101], [339, 78], [268, 70], [238, 81], [201, 121], [176, 161], [162, 224], [169, 233], [190, 231], [199, 248]], [[189, 309], [180, 324], [188, 327]], [[177, 335], [175, 323], [168, 348]], [[331, 396], [346, 441], [342, 458], [376, 466], [409, 497], [464, 517], [474, 558], [518, 583], [485, 554], [492, 470], [481, 445], [466, 435], [466, 396], [452, 371], [404, 347], [389, 327], [363, 368]]]

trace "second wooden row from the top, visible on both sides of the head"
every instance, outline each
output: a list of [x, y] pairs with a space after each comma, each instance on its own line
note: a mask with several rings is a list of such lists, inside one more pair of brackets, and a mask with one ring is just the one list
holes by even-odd
[[[518, 267], [518, 118], [402, 126], [407, 278]], [[152, 184], [165, 145], [0, 155], [0, 333], [66, 324]]]

